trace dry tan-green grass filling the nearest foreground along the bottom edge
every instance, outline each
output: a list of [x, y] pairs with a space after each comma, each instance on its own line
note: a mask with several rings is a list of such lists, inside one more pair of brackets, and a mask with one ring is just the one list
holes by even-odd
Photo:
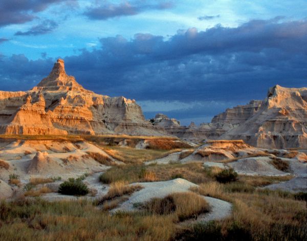
[[[0, 240], [204, 240], [203, 237], [206, 240], [303, 240], [306, 202], [286, 192], [255, 190], [262, 183], [261, 177], [257, 179], [250, 180], [249, 188], [240, 183], [245, 177], [240, 177], [236, 184], [213, 180], [201, 183], [194, 192], [231, 202], [233, 214], [223, 221], [190, 227], [181, 226], [176, 213], [159, 211], [158, 201], [151, 203], [147, 211], [115, 215], [97, 209], [96, 203], [81, 200], [49, 203], [37, 198], [2, 202]], [[267, 179], [265, 183], [275, 181], [275, 178]], [[117, 195], [118, 187], [114, 189], [112, 194]], [[188, 206], [182, 204], [188, 199], [179, 196], [175, 199], [177, 205]], [[190, 212], [179, 209], [178, 213], [188, 215], [203, 210], [199, 205], [194, 205], [195, 210]]]

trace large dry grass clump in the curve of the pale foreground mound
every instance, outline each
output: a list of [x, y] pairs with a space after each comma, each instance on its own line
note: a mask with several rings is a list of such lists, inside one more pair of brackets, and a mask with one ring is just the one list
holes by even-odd
[[158, 215], [174, 214], [176, 221], [184, 221], [209, 211], [206, 200], [194, 192], [179, 192], [163, 199], [151, 199], [143, 208]]

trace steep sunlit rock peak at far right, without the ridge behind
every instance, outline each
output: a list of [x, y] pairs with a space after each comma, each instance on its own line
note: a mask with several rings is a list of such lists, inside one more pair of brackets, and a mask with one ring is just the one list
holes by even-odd
[[258, 147], [307, 148], [307, 88], [270, 88], [259, 110], [222, 138]]

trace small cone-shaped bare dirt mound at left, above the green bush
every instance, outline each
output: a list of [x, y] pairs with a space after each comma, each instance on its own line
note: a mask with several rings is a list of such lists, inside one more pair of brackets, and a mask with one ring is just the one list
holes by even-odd
[[37, 151], [35, 157], [30, 161], [28, 174], [60, 173], [62, 167], [48, 156], [48, 153]]

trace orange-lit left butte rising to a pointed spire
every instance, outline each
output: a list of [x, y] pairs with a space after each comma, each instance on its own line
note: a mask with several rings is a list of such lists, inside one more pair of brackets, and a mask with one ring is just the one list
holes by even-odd
[[144, 119], [135, 100], [85, 90], [61, 59], [32, 90], [0, 92], [0, 133], [165, 135]]

